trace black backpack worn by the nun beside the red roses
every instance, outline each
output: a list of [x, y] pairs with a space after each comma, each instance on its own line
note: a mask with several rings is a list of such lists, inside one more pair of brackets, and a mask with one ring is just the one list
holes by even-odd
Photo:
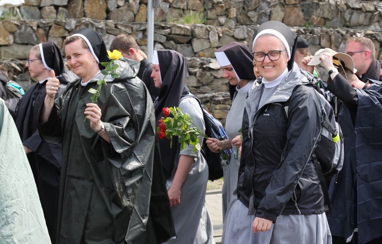
[[[200, 108], [203, 111], [204, 124], [206, 126], [205, 134], [210, 138], [216, 138], [219, 140], [228, 139], [227, 133], [224, 130], [222, 123], [219, 120], [214, 118], [210, 113], [208, 113], [202, 106], [200, 100], [192, 94], [183, 95], [180, 99], [182, 101], [185, 98], [195, 98]], [[231, 150], [224, 150], [225, 153], [231, 158]], [[212, 153], [208, 148], [206, 140], [203, 140], [201, 153], [203, 158], [206, 160], [208, 165], [208, 179], [215, 180], [223, 177], [223, 166], [229, 164], [229, 160], [223, 159], [220, 153]]]

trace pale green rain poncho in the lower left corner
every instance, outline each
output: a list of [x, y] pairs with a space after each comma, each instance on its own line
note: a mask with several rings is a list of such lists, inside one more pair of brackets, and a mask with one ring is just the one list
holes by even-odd
[[50, 243], [31, 167], [0, 99], [0, 243]]

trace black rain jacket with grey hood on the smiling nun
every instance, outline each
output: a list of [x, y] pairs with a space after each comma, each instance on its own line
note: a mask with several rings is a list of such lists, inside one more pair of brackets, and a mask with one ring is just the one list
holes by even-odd
[[[281, 214], [324, 212], [320, 182], [310, 157], [319, 139], [322, 115], [318, 94], [303, 85], [307, 83], [295, 65], [258, 111], [264, 85], [250, 90], [243, 116], [237, 194], [250, 210], [253, 204], [256, 217], [276, 222]], [[289, 98], [286, 111], [283, 103]]]

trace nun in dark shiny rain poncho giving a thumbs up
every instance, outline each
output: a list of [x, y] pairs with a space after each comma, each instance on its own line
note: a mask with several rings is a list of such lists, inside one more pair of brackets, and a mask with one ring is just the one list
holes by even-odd
[[166, 241], [175, 233], [164, 176], [153, 172], [160, 165], [154, 109], [135, 78], [139, 62], [116, 60], [118, 78], [105, 77], [91, 103], [89, 89], [104, 77], [100, 63], [110, 61], [102, 38], [81, 28], [65, 39], [64, 50], [79, 78], [54, 100], [60, 81], [51, 71], [38, 123], [44, 140], [63, 145], [56, 243]]

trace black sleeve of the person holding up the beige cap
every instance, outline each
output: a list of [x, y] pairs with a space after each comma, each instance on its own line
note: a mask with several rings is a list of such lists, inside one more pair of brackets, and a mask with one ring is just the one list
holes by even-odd
[[334, 94], [350, 110], [357, 109], [358, 95], [348, 80], [338, 74], [332, 81], [328, 81], [328, 90]]

